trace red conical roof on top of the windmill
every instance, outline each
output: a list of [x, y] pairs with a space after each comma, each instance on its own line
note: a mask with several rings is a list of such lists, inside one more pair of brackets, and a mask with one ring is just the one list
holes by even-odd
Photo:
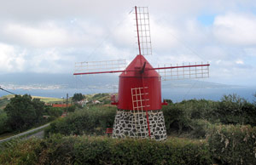
[[146, 65], [144, 68], [143, 77], [160, 77], [158, 72], [153, 69], [152, 65], [149, 64], [148, 60], [146, 60], [143, 55], [137, 55], [136, 58], [131, 61], [130, 65], [126, 67], [125, 71], [120, 74], [119, 77], [142, 77], [140, 71], [142, 71], [145, 62]]

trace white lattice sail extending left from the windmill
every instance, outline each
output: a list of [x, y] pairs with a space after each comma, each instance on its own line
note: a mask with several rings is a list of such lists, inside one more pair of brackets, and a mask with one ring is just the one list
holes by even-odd
[[102, 60], [89, 62], [76, 62], [75, 74], [81, 72], [120, 71], [126, 67], [126, 60]]

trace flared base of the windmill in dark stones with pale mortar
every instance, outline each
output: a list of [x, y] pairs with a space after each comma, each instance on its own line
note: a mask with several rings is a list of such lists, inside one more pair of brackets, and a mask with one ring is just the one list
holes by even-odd
[[[148, 111], [150, 138], [167, 138], [162, 111]], [[146, 112], [118, 110], [113, 124], [113, 138], [149, 138]]]

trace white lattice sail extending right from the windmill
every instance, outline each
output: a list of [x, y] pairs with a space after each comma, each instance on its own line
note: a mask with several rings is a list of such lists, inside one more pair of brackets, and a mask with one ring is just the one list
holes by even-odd
[[[160, 68], [160, 67], [159, 67]], [[209, 64], [200, 65], [196, 64], [191, 65], [164, 65], [163, 68], [158, 70], [162, 81], [169, 80], [183, 80], [191, 78], [207, 78], [209, 77]]]

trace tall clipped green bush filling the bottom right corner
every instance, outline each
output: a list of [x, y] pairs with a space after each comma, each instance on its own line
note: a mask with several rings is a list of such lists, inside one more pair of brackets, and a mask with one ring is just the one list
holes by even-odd
[[212, 156], [221, 164], [256, 164], [256, 128], [218, 125], [207, 133]]

